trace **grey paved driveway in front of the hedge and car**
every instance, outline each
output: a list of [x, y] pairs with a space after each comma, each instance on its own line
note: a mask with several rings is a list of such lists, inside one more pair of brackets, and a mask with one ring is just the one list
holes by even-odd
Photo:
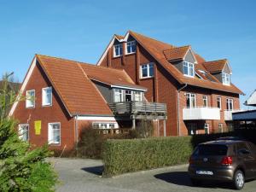
[[[233, 191], [227, 184], [205, 184], [198, 188], [191, 186], [187, 166], [172, 166], [145, 172], [129, 173], [117, 177], [104, 178], [101, 160], [50, 159], [59, 173], [61, 185], [58, 192], [207, 192]], [[241, 191], [256, 191], [256, 181], [246, 183]]]

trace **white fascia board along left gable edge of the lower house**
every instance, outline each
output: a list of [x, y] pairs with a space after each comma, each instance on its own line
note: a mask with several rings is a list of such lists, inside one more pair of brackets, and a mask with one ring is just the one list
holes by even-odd
[[32, 76], [32, 72], [34, 70], [34, 68], [36, 67], [36, 64], [37, 64], [37, 57], [35, 56], [33, 61], [32, 61], [32, 65], [31, 67], [28, 69], [28, 72], [26, 73], [26, 77], [21, 85], [21, 88], [20, 88], [20, 91], [19, 91], [19, 95], [17, 96], [16, 98], [16, 102], [13, 104], [12, 108], [10, 109], [9, 111], [9, 116], [13, 115], [13, 113], [15, 112], [15, 108], [17, 107], [18, 105], [18, 102], [20, 100], [20, 96], [22, 96], [23, 94], [23, 91], [25, 90], [26, 88], [26, 84], [28, 83], [29, 79], [31, 78]]

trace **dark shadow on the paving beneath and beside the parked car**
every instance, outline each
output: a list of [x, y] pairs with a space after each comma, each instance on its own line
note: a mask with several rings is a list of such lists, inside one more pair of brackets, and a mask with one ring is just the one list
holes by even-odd
[[[163, 180], [167, 183], [173, 183], [177, 185], [183, 185], [188, 187], [194, 187], [194, 185], [190, 182], [189, 173], [188, 172], [165, 172], [154, 175], [155, 178]], [[204, 182], [201, 183], [201, 188], [224, 188], [224, 189], [232, 189], [232, 185], [230, 183], [212, 183], [212, 182]]]

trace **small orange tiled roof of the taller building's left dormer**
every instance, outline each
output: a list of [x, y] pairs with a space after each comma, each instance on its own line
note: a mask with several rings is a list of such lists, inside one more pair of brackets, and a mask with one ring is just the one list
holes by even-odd
[[164, 55], [166, 56], [166, 60], [168, 61], [183, 60], [184, 56], [187, 54], [189, 49], [189, 45], [172, 49], [166, 49], [164, 50]]

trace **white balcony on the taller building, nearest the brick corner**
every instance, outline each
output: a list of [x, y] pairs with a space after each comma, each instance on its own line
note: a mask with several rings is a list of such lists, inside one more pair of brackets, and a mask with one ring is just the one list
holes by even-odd
[[183, 120], [219, 120], [219, 108], [195, 107], [183, 108]]

